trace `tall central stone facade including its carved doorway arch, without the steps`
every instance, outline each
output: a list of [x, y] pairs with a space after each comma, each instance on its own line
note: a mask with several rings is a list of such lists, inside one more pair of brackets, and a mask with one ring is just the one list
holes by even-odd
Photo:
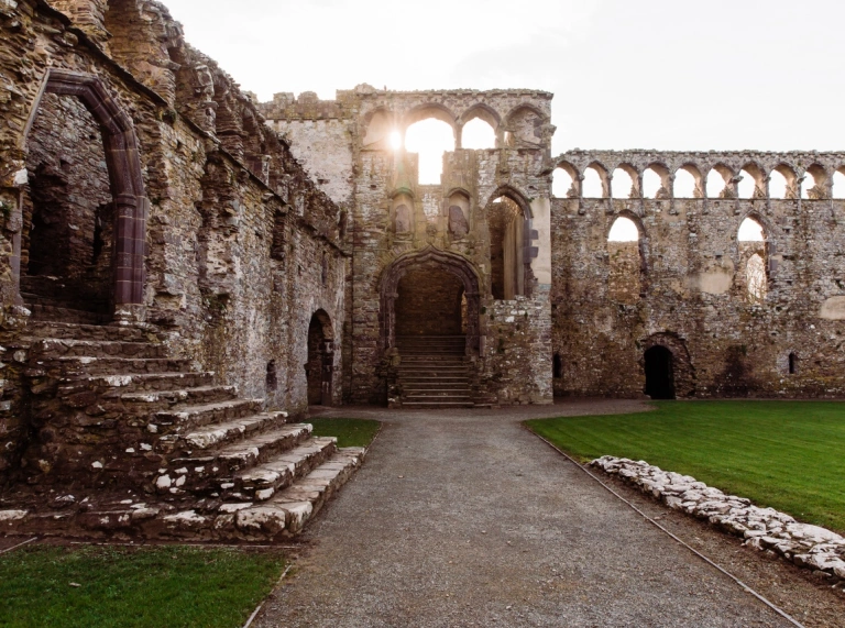
[[[392, 367], [402, 364], [397, 335], [438, 332], [434, 320], [452, 321], [441, 334], [467, 335], [476, 403], [551, 401], [550, 104], [541, 91], [361, 85], [333, 101], [279, 93], [262, 106], [270, 126], [350, 216], [348, 401], [400, 396], [392, 390]], [[396, 147], [408, 126], [428, 118], [448, 123], [456, 139], [438, 185], [420, 185], [417, 155]], [[462, 129], [475, 118], [493, 128], [495, 147], [461, 147]], [[415, 323], [413, 312], [428, 322]]]

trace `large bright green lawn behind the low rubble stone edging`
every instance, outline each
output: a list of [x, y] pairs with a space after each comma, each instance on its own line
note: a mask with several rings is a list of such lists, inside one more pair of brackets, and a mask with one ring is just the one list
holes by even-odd
[[658, 401], [650, 412], [527, 421], [581, 460], [615, 455], [695, 476], [845, 532], [845, 404]]

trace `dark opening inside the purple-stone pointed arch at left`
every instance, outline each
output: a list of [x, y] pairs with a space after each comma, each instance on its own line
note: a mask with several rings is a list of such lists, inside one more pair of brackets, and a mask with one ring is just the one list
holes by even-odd
[[33, 318], [110, 320], [114, 202], [100, 129], [83, 102], [44, 95], [26, 144], [20, 289]]

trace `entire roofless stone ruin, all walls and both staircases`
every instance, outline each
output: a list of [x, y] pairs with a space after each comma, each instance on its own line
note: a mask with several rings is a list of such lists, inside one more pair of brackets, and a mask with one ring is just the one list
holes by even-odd
[[[259, 103], [151, 0], [0, 29], [2, 529], [296, 533], [363, 455], [309, 405], [845, 393], [845, 153], [553, 156], [535, 90]], [[427, 119], [437, 185], [393, 143]]]

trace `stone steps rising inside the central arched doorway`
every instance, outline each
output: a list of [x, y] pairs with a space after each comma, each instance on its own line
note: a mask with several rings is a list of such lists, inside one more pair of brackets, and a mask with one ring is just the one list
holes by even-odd
[[464, 335], [399, 335], [403, 408], [472, 408]]

